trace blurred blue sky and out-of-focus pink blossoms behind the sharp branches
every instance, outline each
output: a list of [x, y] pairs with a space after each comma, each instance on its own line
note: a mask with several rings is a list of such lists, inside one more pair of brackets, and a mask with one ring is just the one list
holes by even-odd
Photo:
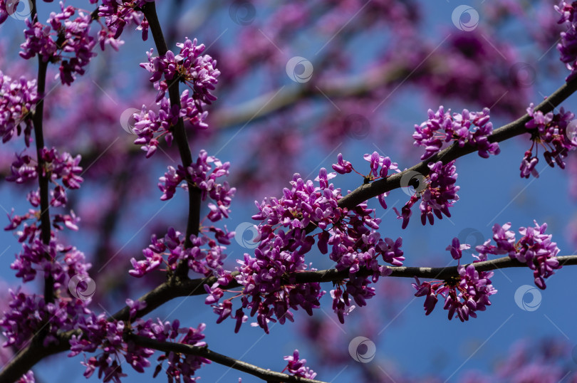
[[[94, 9], [88, 1], [66, 4]], [[42, 21], [58, 10], [57, 4], [39, 6]], [[281, 196], [293, 173], [314, 179], [342, 153], [367, 174], [363, 154], [375, 151], [400, 169], [412, 167], [422, 154], [412, 145], [412, 132], [427, 120], [429, 108], [489, 107], [497, 128], [523, 115], [529, 103], [540, 103], [569, 73], [556, 49], [563, 26], [549, 1], [164, 0], [157, 1], [157, 10], [169, 48], [177, 50], [175, 43], [185, 37], [197, 38], [222, 73], [214, 91], [218, 100], [207, 108], [209, 129], [188, 135], [193, 157], [206, 149], [231, 162], [228, 181], [236, 196], [225, 224], [237, 232], [227, 248], [229, 270], [254, 248], [254, 201]], [[24, 27], [17, 18], [0, 26], [0, 70], [13, 78], [36, 73], [36, 61], [18, 56]], [[97, 313], [114, 313], [126, 298], [162, 283], [161, 272], [147, 280], [129, 276], [130, 258], [142, 258], [151, 234], [163, 236], [170, 226], [186, 228], [186, 192], [179, 189], [173, 199], [160, 201], [157, 188], [167, 166], [179, 164], [176, 145], [163, 142], [155, 156], [145, 159], [132, 143], [130, 126], [121, 122], [127, 110], [143, 104], [153, 108], [156, 97], [148, 73], [139, 67], [147, 61], [152, 37], [142, 41], [133, 29], [127, 26], [118, 53], [98, 51], [71, 87], [53, 80], [56, 71], [47, 85], [47, 145], [83, 157], [83, 187], [68, 194], [81, 219], [80, 231], [68, 241], [93, 265], [92, 309]], [[562, 106], [575, 112], [576, 97]], [[460, 199], [452, 217], [435, 220], [434, 226], [422, 226], [414, 207], [409, 226], [400, 228], [393, 207], [400, 210], [409, 199], [401, 189], [390, 193], [387, 210], [369, 201], [383, 219], [381, 235], [402, 236], [405, 266], [453, 266], [445, 251], [452, 238], [474, 248], [492, 236], [494, 224], [506, 222], [515, 231], [533, 226], [534, 220], [546, 222], [560, 255], [576, 252], [577, 157], [570, 154], [564, 170], [541, 159], [539, 178], [521, 179], [529, 135], [500, 147], [501, 154], [489, 159], [470, 154], [457, 160]], [[11, 209], [24, 214], [24, 196], [35, 188], [4, 180], [14, 153], [23, 149], [14, 143], [0, 149], [0, 207], [7, 214]], [[363, 177], [353, 173], [332, 182], [346, 194]], [[19, 249], [11, 232], [0, 233], [1, 290], [20, 284], [10, 269]], [[472, 260], [470, 252], [464, 256], [465, 262]], [[318, 269], [333, 267], [315, 251], [307, 261]], [[568, 382], [577, 369], [574, 275], [571, 267], [563, 268], [540, 291], [528, 268], [497, 270], [492, 282], [499, 293], [486, 312], [468, 322], [447, 320], [442, 303], [425, 317], [424, 300], [413, 296], [413, 280], [400, 278], [382, 278], [375, 285], [377, 295], [353, 311], [345, 325], [338, 323], [328, 293], [313, 318], [296, 313], [294, 323], [271, 325], [269, 335], [249, 325], [234, 334], [232, 320], [217, 325], [203, 296], [173, 300], [150, 317], [178, 318], [191, 327], [205, 322], [212, 350], [276, 371], [286, 366], [282, 358], [298, 349], [317, 379], [327, 382]], [[323, 288], [329, 291], [332, 285]], [[41, 286], [28, 283], [24, 289], [38, 292]], [[367, 338], [375, 352], [356, 337]], [[374, 359], [356, 361], [351, 342], [358, 343], [357, 355], [374, 354]], [[85, 382], [81, 360], [64, 355], [44, 360], [34, 369], [37, 381]], [[531, 369], [522, 375], [516, 366]], [[153, 369], [144, 375], [128, 366], [126, 371], [125, 382], [152, 381]], [[239, 377], [260, 382], [217, 364], [202, 367], [199, 376], [201, 382], [237, 382]]]

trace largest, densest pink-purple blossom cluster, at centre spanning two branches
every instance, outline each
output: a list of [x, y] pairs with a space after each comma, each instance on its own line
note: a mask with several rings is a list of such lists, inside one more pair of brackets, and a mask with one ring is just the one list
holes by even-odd
[[[394, 168], [390, 160], [378, 157], [373, 161], [375, 164]], [[339, 162], [346, 167], [342, 156], [339, 156]], [[386, 170], [373, 170], [386, 177]], [[235, 278], [243, 286], [242, 293], [219, 303], [224, 295], [219, 288], [222, 283], [205, 286], [209, 293], [205, 302], [213, 305], [214, 312], [219, 315], [217, 322], [233, 318], [238, 331], [247, 319], [244, 309], [249, 309], [251, 316], [257, 315], [257, 324], [268, 332], [268, 322], [278, 320], [283, 324], [287, 319], [292, 321], [291, 310], [303, 308], [312, 315], [313, 308], [319, 307], [319, 298], [325, 292], [319, 283], [296, 283], [295, 273], [315, 270], [307, 266], [304, 259], [315, 244], [315, 237], [321, 253], [330, 251], [329, 257], [336, 263], [336, 268], [349, 274], [347, 280], [331, 291], [333, 309], [341, 322], [355, 308], [352, 300], [362, 306], [374, 295], [374, 288], [369, 287], [369, 283], [390, 274], [388, 267], [378, 264], [379, 258], [394, 266], [402, 265], [405, 258], [400, 250], [401, 238], [396, 241], [380, 238], [376, 231], [380, 219], [373, 216], [373, 209], [368, 209], [366, 204], [359, 204], [354, 209], [339, 207], [341, 189], [329, 184], [333, 177], [336, 177], [335, 173], [329, 174], [323, 168], [316, 178], [319, 186], [315, 186], [311, 180], [305, 182], [299, 174], [294, 174], [291, 189], [285, 188], [281, 198], [267, 198], [260, 204], [256, 202], [259, 213], [252, 218], [262, 221], [256, 226], [259, 245], [254, 257], [244, 254], [244, 261], [239, 261], [239, 275]], [[310, 235], [309, 226], [322, 231]], [[356, 276], [360, 268], [373, 271], [372, 278]], [[240, 298], [241, 308], [233, 315], [234, 298]]]

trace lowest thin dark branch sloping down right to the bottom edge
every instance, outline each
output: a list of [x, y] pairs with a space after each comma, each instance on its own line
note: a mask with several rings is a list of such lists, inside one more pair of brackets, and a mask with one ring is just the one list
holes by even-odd
[[204, 357], [207, 360], [212, 360], [212, 362], [222, 364], [223, 366], [238, 369], [239, 371], [251, 374], [254, 377], [263, 379], [265, 382], [323, 383], [320, 380], [295, 377], [293, 375], [287, 375], [281, 372], [274, 372], [268, 369], [257, 367], [254, 364], [242, 362], [241, 360], [236, 360], [232, 357], [227, 357], [226, 355], [222, 355], [212, 350], [209, 350], [208, 347], [189, 346], [189, 345], [183, 345], [182, 343], [159, 342], [158, 340], [142, 337], [140, 335], [128, 335], [128, 338], [133, 342], [135, 342], [135, 344], [139, 345], [140, 347], [152, 348], [154, 350], [164, 352], [172, 351], [186, 355], [195, 355], [197, 357]]

